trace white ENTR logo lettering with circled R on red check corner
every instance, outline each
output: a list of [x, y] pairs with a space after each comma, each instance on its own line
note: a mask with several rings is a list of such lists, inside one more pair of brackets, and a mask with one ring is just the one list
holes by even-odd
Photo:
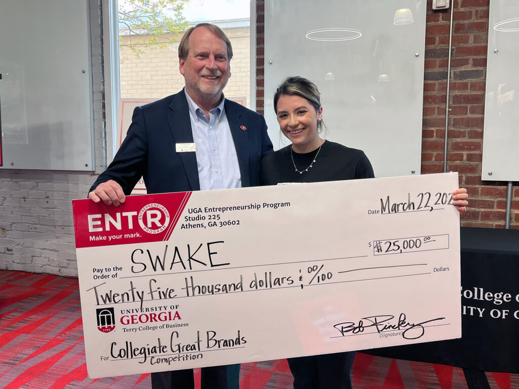
[[107, 213], [88, 215], [88, 232], [110, 231], [111, 229], [132, 230], [135, 216], [138, 216], [139, 226], [151, 234], [164, 231], [170, 220], [165, 206], [151, 203], [145, 205], [139, 214], [137, 212], [117, 212], [114, 216]]

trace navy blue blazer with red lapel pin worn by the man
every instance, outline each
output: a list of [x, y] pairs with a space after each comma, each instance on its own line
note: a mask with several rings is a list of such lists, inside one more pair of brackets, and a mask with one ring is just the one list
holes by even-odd
[[[241, 186], [261, 185], [261, 160], [272, 152], [265, 119], [233, 101], [225, 100], [224, 108], [238, 155]], [[113, 179], [129, 195], [141, 176], [148, 193], [200, 190], [195, 152], [176, 152], [176, 143], [193, 143], [184, 90], [135, 108], [124, 142], [90, 191]]]

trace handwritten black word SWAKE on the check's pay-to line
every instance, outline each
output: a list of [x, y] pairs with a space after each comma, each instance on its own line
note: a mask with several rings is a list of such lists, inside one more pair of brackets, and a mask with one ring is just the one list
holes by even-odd
[[[187, 270], [187, 268], [189, 268], [189, 270], [194, 270], [207, 267], [208, 263], [211, 268], [230, 265], [230, 262], [214, 263], [213, 261], [213, 257], [218, 253], [216, 251], [212, 251], [214, 250], [212, 246], [220, 243], [223, 244], [225, 242], [216, 241], [200, 243], [198, 244], [198, 247], [196, 246], [196, 244], [187, 244], [186, 247], [174, 246], [174, 248], [169, 250], [169, 255], [171, 258], [168, 258], [169, 245], [166, 245], [166, 247], [164, 248], [164, 253], [162, 254], [162, 257], [155, 254], [152, 255], [152, 252], [149, 249], [143, 250], [142, 248], [136, 248], [131, 253], [131, 261], [134, 263], [134, 265], [139, 266], [132, 266], [131, 271], [132, 273], [142, 273], [143, 271], [148, 269], [148, 267], [150, 267], [154, 272], [165, 271], [166, 269], [173, 270], [173, 267], [179, 270]], [[202, 246], [207, 247], [207, 252], [202, 250], [199, 253]], [[171, 253], [171, 251], [173, 253]], [[195, 258], [196, 255], [198, 256]], [[187, 258], [187, 267], [183, 258]]]

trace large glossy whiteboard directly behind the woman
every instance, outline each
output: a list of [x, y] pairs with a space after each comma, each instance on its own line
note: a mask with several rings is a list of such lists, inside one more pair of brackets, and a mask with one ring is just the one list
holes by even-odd
[[287, 76], [317, 84], [326, 138], [364, 150], [377, 177], [420, 173], [426, 2], [265, 1], [265, 118]]

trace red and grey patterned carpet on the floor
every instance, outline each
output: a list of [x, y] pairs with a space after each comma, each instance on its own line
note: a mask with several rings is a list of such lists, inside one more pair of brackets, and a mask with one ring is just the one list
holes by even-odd
[[[356, 389], [467, 388], [460, 368], [362, 353], [353, 374]], [[487, 378], [493, 389], [519, 389], [518, 374], [487, 373]], [[243, 364], [240, 380], [241, 389], [292, 388], [284, 359]], [[0, 388], [149, 387], [148, 374], [87, 377], [77, 279], [0, 270]]]

